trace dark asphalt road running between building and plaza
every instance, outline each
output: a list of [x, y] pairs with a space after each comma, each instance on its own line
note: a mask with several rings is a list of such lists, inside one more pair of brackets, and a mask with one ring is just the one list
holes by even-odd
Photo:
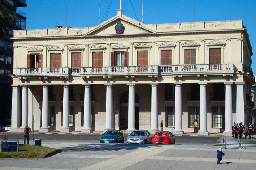
[[[23, 140], [23, 134], [0, 134], [0, 140], [3, 140], [3, 136], [6, 136], [8, 140]], [[82, 134], [34, 134], [35, 139], [41, 139], [42, 144], [47, 142], [85, 142], [85, 143], [100, 143], [100, 137], [102, 135], [82, 135]], [[124, 136], [125, 143], [128, 136]], [[215, 141], [217, 141], [220, 137], [215, 136], [175, 136], [176, 144], [179, 145], [206, 145], [212, 146]], [[33, 141], [33, 135], [30, 134], [30, 142]]]

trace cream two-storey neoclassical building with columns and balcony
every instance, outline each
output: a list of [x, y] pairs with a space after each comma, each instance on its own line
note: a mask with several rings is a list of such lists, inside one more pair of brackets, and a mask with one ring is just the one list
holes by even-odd
[[14, 30], [11, 132], [164, 129], [231, 134], [248, 123], [252, 48], [242, 20]]

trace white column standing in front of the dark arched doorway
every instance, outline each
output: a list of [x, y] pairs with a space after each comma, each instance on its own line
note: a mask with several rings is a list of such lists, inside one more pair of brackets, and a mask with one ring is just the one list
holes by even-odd
[[126, 133], [135, 130], [135, 84], [127, 84], [129, 86], [128, 98], [128, 129]]

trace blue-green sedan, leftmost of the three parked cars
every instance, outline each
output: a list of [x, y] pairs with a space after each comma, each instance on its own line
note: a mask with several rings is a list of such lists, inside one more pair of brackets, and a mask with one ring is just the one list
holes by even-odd
[[120, 130], [108, 130], [100, 138], [100, 143], [124, 143], [124, 135]]

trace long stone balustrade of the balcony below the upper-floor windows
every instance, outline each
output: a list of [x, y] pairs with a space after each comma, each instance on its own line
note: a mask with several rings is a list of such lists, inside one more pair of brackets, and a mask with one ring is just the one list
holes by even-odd
[[233, 73], [234, 64], [188, 64], [169, 66], [114, 66], [81, 68], [17, 68], [17, 76], [80, 75], [80, 76], [124, 76], [187, 73]]

